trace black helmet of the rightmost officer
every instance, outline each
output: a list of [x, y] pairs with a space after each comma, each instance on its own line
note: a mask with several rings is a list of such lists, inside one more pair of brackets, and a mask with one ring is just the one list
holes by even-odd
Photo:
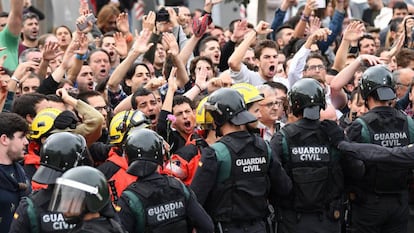
[[359, 83], [364, 100], [372, 96], [376, 100], [386, 101], [396, 98], [395, 83], [391, 72], [383, 65], [371, 66], [365, 70]]

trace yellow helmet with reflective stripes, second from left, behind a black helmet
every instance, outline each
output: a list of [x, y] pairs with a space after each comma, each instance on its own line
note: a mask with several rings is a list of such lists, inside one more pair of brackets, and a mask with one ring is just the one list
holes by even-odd
[[109, 140], [112, 144], [121, 143], [125, 134], [132, 128], [147, 128], [148, 118], [139, 110], [122, 111], [116, 114], [109, 125]]

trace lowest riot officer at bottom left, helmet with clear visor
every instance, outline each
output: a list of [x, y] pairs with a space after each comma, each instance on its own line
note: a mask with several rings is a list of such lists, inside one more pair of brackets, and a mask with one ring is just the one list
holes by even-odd
[[71, 233], [124, 233], [114, 220], [107, 180], [93, 167], [74, 167], [57, 178], [49, 211], [61, 212], [66, 222], [76, 223]]

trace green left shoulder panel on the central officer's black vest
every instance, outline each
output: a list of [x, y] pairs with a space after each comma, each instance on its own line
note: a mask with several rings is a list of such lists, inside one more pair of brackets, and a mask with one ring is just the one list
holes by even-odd
[[230, 151], [222, 142], [216, 142], [210, 147], [216, 152], [216, 158], [220, 166], [217, 181], [223, 182], [230, 177], [231, 173]]

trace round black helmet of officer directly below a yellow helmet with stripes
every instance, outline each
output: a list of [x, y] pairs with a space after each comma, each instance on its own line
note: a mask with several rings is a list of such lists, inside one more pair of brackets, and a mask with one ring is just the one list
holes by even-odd
[[150, 129], [133, 129], [125, 142], [127, 172], [138, 176], [154, 173], [164, 161], [164, 140]]

